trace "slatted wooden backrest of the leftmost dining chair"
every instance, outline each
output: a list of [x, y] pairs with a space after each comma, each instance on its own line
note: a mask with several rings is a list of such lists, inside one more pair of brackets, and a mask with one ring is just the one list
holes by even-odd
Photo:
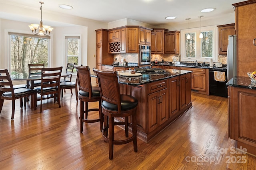
[[0, 95], [4, 92], [11, 92], [14, 97], [13, 84], [7, 69], [0, 70]]

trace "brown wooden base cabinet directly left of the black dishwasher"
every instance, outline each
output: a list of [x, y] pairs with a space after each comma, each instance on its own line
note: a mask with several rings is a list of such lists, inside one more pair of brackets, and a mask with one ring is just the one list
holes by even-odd
[[194, 92], [209, 95], [209, 69], [180, 67], [180, 70], [192, 72], [191, 88]]

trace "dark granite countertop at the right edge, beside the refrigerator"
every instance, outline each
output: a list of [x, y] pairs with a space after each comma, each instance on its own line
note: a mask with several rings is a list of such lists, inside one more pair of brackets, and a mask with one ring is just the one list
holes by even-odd
[[251, 82], [250, 77], [235, 76], [226, 83], [226, 86], [249, 88], [256, 90], [256, 83]]

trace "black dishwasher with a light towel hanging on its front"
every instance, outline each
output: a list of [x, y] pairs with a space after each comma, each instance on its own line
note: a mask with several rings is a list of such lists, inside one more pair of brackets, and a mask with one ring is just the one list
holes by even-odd
[[[216, 81], [214, 79], [214, 71], [225, 72], [226, 80], [225, 81]], [[209, 68], [209, 93], [210, 95], [228, 97], [228, 88], [226, 86], [226, 82], [228, 82], [227, 78], [227, 69], [226, 67], [216, 67]]]

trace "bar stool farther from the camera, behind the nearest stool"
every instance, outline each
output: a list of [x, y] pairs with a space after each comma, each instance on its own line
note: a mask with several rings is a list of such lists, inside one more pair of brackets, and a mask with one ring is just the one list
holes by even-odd
[[[100, 103], [99, 87], [92, 86], [89, 66], [74, 65], [74, 68], [76, 68], [79, 88], [78, 98], [80, 100], [80, 132], [83, 132], [84, 122], [94, 123], [98, 121], [100, 122], [100, 131], [102, 131], [103, 114]], [[99, 102], [99, 108], [88, 109], [88, 102]], [[89, 111], [99, 111], [99, 119], [88, 119]]]

